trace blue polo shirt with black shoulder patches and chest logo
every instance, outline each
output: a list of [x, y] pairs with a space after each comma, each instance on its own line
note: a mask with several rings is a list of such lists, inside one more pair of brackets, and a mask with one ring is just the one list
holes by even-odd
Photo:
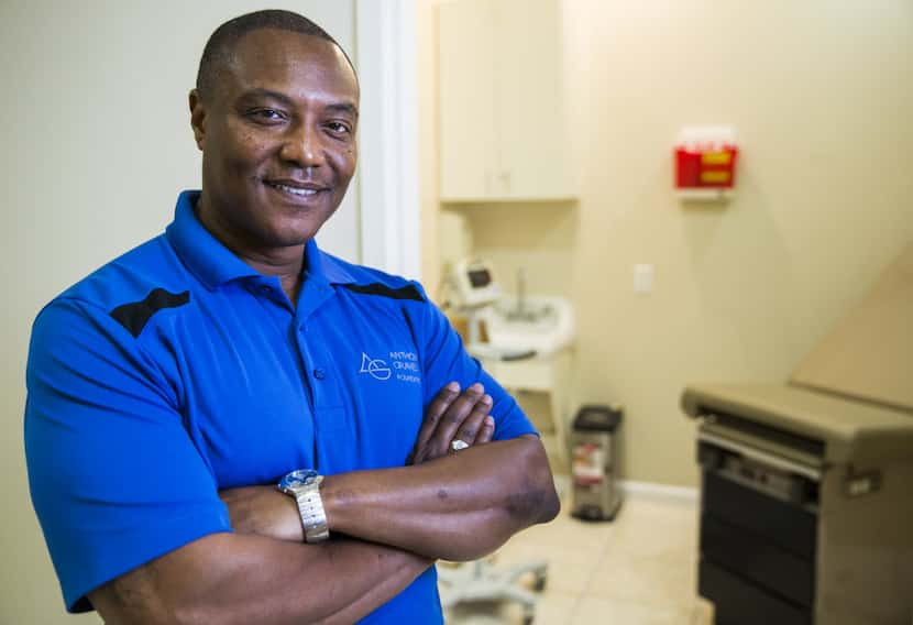
[[[310, 241], [293, 307], [200, 224], [198, 196], [182, 194], [165, 233], [33, 327], [29, 481], [72, 612], [91, 610], [86, 593], [102, 583], [231, 531], [220, 489], [404, 465], [451, 380], [485, 385], [496, 438], [534, 431], [418, 283]], [[364, 619], [441, 621], [433, 568]]]

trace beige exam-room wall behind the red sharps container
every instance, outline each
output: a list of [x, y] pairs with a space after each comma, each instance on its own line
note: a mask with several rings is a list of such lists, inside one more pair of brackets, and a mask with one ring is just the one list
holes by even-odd
[[[913, 3], [566, 0], [564, 29], [580, 202], [460, 210], [505, 286], [525, 266], [576, 305], [573, 395], [626, 406], [624, 476], [694, 485], [684, 384], [785, 380], [913, 238]], [[672, 142], [702, 123], [738, 132], [725, 206], [672, 194]]]

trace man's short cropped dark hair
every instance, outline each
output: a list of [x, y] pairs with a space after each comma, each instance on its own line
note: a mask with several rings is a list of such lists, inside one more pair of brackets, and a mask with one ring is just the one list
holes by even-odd
[[231, 63], [235, 44], [248, 33], [263, 29], [289, 31], [326, 40], [342, 52], [345, 61], [352, 67], [352, 72], [355, 70], [352, 61], [342, 50], [342, 46], [339, 45], [339, 42], [311, 20], [292, 11], [277, 9], [255, 11], [229, 20], [209, 36], [197, 70], [197, 94], [200, 99], [208, 100], [215, 92], [222, 72]]

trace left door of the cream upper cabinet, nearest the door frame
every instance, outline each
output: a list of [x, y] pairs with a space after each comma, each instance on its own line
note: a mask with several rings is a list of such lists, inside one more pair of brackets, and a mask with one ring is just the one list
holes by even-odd
[[439, 7], [441, 199], [492, 195], [497, 166], [492, 0]]

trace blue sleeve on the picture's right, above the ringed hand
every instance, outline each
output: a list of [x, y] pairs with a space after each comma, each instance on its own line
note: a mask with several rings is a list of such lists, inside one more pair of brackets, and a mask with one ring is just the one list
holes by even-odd
[[517, 401], [482, 368], [479, 360], [469, 354], [463, 340], [444, 314], [428, 299], [424, 290], [421, 294], [426, 299], [421, 328], [425, 339], [421, 364], [426, 381], [426, 408], [438, 392], [451, 381], [459, 382], [462, 388], [480, 382], [494, 399], [492, 416], [495, 419], [495, 440], [507, 440], [527, 434], [538, 436]]

